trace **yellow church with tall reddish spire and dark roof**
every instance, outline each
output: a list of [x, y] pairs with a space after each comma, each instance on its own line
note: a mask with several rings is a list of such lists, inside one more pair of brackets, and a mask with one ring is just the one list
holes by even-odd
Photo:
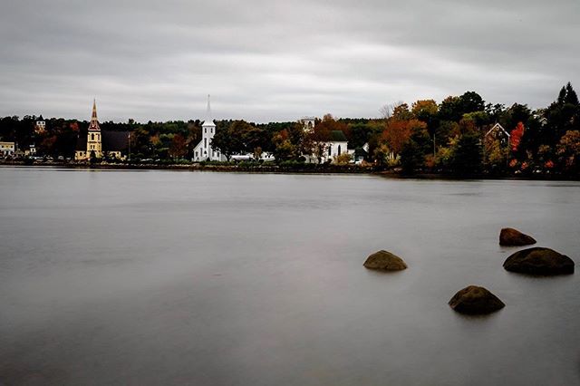
[[102, 131], [97, 119], [97, 103], [92, 102], [91, 123], [86, 136], [79, 135], [74, 159], [124, 159], [129, 148], [129, 131]]

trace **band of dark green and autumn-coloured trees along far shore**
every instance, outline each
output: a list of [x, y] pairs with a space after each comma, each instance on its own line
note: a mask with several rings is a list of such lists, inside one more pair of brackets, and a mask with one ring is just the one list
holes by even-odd
[[[0, 138], [25, 148], [36, 145], [41, 155], [73, 158], [76, 141], [88, 121], [46, 120], [45, 130], [34, 130], [42, 117], [0, 119]], [[508, 136], [488, 135], [495, 124]], [[101, 122], [102, 130], [131, 131], [131, 159], [193, 159], [201, 140], [196, 121], [139, 123]], [[366, 165], [374, 169], [401, 169], [458, 175], [488, 173], [561, 173], [580, 171], [580, 103], [568, 82], [549, 106], [532, 111], [526, 104], [489, 103], [477, 92], [434, 100], [384, 105], [377, 119], [335, 119], [326, 114], [314, 130], [300, 121], [216, 121], [214, 150], [227, 159], [271, 154], [277, 162], [304, 161], [304, 155], [322, 161], [330, 133], [343, 131], [349, 148], [362, 148]], [[338, 159], [348, 161], [348, 158]]]

